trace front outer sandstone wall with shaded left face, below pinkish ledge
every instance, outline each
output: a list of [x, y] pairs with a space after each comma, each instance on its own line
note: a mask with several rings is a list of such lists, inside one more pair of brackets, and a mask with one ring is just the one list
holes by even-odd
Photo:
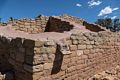
[[87, 80], [120, 62], [119, 33], [75, 32], [57, 42], [1, 37], [0, 43], [1, 63], [9, 66], [1, 69], [14, 80]]

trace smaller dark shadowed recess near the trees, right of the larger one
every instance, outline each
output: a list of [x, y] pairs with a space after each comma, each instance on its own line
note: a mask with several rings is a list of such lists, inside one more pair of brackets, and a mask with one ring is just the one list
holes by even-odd
[[104, 29], [101, 29], [100, 26], [87, 23], [86, 21], [83, 22], [83, 26], [85, 26], [86, 29], [93, 31], [93, 32], [105, 31]]

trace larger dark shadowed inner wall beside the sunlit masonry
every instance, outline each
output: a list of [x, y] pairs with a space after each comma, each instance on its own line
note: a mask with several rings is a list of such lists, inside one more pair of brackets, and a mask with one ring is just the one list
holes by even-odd
[[61, 19], [49, 17], [49, 20], [46, 25], [45, 32], [60, 32], [70, 31], [73, 29], [73, 25], [70, 25], [69, 22], [62, 21]]

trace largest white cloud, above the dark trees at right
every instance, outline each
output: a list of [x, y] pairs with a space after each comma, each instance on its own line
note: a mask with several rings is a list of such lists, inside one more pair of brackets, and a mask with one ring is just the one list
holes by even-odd
[[113, 11], [118, 10], [119, 8], [111, 8], [110, 6], [105, 7], [104, 9], [102, 9], [100, 11], [100, 13], [98, 14], [98, 16], [104, 16], [107, 14], [111, 14]]

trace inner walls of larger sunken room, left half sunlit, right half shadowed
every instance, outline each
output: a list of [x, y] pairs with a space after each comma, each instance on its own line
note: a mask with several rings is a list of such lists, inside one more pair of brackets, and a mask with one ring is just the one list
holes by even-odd
[[31, 34], [43, 33], [43, 32], [64, 32], [70, 31], [73, 25], [69, 21], [63, 21], [57, 17], [41, 16], [32, 19], [20, 19], [9, 22], [13, 28], [18, 31], [24, 31]]

